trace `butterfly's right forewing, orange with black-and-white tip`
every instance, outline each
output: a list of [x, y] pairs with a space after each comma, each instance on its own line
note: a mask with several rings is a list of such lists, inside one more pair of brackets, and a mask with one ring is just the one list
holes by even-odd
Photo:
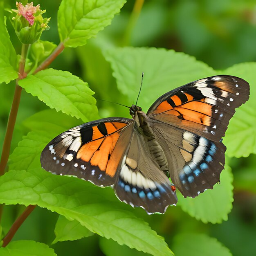
[[249, 99], [249, 84], [235, 76], [212, 76], [157, 99], [147, 115], [213, 141], [225, 135], [235, 108]]

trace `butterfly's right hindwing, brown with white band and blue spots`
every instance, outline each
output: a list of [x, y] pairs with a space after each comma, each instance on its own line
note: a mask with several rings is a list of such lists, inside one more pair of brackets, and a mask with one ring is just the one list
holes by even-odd
[[163, 123], [153, 129], [168, 160], [171, 180], [184, 197], [194, 198], [220, 181], [226, 150], [221, 142]]

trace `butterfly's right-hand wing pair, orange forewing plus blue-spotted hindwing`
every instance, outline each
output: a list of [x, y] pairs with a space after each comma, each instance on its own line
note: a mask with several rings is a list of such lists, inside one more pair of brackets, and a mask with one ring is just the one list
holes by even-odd
[[148, 110], [164, 148], [171, 180], [186, 196], [212, 189], [225, 164], [225, 135], [235, 108], [249, 99], [249, 84], [234, 76], [212, 76], [160, 97]]

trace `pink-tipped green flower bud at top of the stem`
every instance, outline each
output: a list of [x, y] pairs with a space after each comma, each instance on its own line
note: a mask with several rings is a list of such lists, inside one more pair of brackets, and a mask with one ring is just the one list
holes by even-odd
[[43, 18], [45, 10], [40, 10], [40, 5], [33, 6], [33, 2], [25, 6], [16, 2], [17, 10], [12, 10], [16, 16], [12, 18], [12, 25], [15, 32], [24, 44], [36, 42], [45, 29], [49, 29], [48, 22], [50, 18]]

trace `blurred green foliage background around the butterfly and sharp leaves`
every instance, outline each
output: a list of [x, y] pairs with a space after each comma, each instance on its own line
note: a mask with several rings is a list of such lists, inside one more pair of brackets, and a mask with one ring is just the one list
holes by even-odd
[[[7, 7], [15, 8], [16, 1], [4, 1]], [[50, 30], [44, 32], [41, 39], [56, 44], [59, 43], [56, 14], [60, 2], [34, 1], [34, 5], [40, 4], [41, 9], [47, 10], [47, 17], [52, 17]], [[99, 32], [96, 38], [88, 40], [87, 45], [65, 49], [51, 67], [67, 70], [81, 77], [96, 92], [96, 99], [113, 100], [115, 95], [117, 102], [126, 103], [125, 96], [117, 90], [110, 64], [103, 57], [103, 49], [113, 46], [164, 47], [195, 56], [216, 70], [236, 63], [256, 61], [254, 0], [146, 0], [137, 21], [135, 19], [136, 22], [132, 24], [129, 20], [134, 4], [134, 0], [128, 0], [121, 13], [115, 16], [112, 25]], [[20, 53], [20, 43], [9, 21], [7, 26], [13, 45], [17, 53]], [[14, 84], [15, 82], [8, 86], [0, 85], [0, 153]], [[97, 106], [101, 117], [128, 117], [127, 110], [121, 106], [103, 101], [98, 101]], [[47, 109], [44, 103], [25, 91], [22, 92], [12, 150], [29, 131], [22, 122], [43, 109]], [[234, 203], [229, 220], [216, 225], [204, 224], [191, 218], [180, 207], [173, 207], [168, 215], [148, 216], [146, 221], [159, 235], [164, 236], [171, 249], [174, 234], [186, 231], [216, 237], [234, 256], [256, 255], [256, 157], [250, 155], [247, 158], [229, 159], [229, 165], [234, 174]], [[5, 207], [4, 228], [8, 229], [24, 208]], [[31, 239], [51, 244], [57, 218], [56, 213], [37, 207], [14, 239]], [[112, 245], [112, 253], [106, 249], [111, 244], [107, 245], [103, 238], [94, 235], [77, 241], [59, 242], [52, 247], [58, 255], [118, 255], [115, 243]], [[126, 255], [131, 255], [131, 251], [128, 250]]]

